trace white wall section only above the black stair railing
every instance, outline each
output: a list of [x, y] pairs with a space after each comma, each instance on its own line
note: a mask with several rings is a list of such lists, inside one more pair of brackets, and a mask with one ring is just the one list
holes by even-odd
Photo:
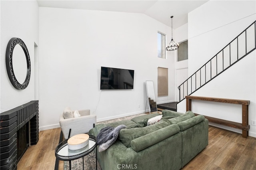
[[255, 21], [255, 3], [210, 0], [188, 14], [189, 75]]

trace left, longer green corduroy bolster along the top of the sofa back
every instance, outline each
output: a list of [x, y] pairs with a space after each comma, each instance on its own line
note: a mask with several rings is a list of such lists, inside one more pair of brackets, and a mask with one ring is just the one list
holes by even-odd
[[152, 146], [180, 131], [178, 125], [173, 124], [168, 127], [161, 128], [144, 136], [138, 137], [131, 141], [131, 147], [136, 152]]

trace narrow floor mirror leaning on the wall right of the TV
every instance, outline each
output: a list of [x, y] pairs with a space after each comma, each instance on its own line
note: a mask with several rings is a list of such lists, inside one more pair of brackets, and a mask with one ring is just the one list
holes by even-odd
[[147, 89], [147, 95], [148, 95], [149, 113], [155, 112], [157, 111], [157, 105], [156, 105], [156, 97], [155, 97], [153, 81], [146, 81], [146, 89]]

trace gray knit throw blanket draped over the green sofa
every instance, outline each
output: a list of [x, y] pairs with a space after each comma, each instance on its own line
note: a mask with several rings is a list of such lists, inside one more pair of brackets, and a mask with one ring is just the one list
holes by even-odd
[[119, 132], [122, 128], [126, 128], [125, 125], [119, 125], [118, 127], [104, 127], [100, 130], [97, 135], [97, 144], [99, 145], [99, 152], [102, 152], [109, 148], [119, 135]]

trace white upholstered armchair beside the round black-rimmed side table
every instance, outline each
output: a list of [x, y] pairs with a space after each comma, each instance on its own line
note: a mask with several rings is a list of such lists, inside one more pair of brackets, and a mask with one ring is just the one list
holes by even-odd
[[60, 127], [65, 139], [76, 134], [87, 133], [96, 125], [96, 115], [90, 115], [89, 109], [78, 112], [80, 117], [69, 119], [64, 119], [63, 113], [60, 114]]

